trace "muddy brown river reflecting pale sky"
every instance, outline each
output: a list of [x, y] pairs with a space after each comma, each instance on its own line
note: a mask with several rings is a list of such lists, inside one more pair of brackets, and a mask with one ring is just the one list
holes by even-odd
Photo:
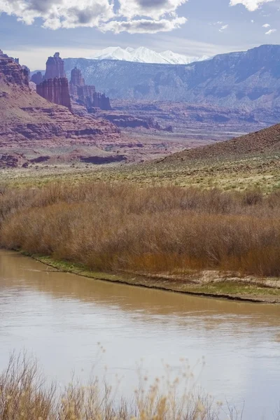
[[180, 376], [187, 358], [197, 386], [238, 409], [245, 401], [245, 419], [274, 419], [279, 407], [280, 306], [94, 281], [0, 251], [0, 369], [23, 349], [62, 386], [94, 367], [128, 396], [139, 367], [149, 380]]

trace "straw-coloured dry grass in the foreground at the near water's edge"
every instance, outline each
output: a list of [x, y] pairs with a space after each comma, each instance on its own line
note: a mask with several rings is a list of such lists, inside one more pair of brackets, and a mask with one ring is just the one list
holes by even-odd
[[[169, 382], [162, 393], [158, 380], [146, 391], [140, 384], [130, 402], [98, 379], [87, 386], [73, 381], [60, 392], [46, 384], [36, 361], [14, 354], [0, 374], [0, 420], [218, 420], [212, 398], [183, 389], [177, 394], [178, 385], [178, 379]], [[228, 418], [241, 418], [234, 414]]]

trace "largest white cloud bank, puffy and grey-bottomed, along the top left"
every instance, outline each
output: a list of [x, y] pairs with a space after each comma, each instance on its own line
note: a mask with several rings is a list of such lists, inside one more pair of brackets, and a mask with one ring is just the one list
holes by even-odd
[[[186, 23], [176, 10], [188, 0], [0, 0], [0, 14], [48, 29], [96, 27], [102, 31], [155, 33]], [[125, 29], [126, 28], [126, 29]]]

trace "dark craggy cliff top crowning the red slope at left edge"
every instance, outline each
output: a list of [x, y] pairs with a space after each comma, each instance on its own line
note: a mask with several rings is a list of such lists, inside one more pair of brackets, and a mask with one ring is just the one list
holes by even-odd
[[29, 83], [27, 69], [20, 66], [12, 57], [4, 54], [2, 50], [0, 50], [0, 80], [1, 78], [5, 78], [8, 83], [17, 85], [28, 86]]

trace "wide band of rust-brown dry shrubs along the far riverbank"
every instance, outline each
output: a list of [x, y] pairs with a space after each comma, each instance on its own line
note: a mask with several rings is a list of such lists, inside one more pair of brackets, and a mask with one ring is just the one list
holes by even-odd
[[280, 194], [87, 183], [0, 190], [0, 244], [97, 271], [280, 274]]

